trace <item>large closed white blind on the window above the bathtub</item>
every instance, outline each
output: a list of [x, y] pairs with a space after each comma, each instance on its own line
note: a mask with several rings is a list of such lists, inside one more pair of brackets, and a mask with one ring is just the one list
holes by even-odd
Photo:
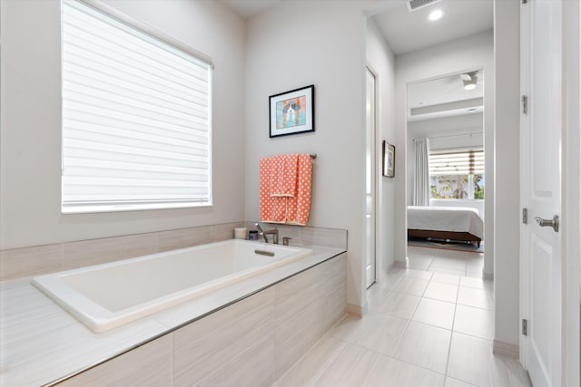
[[212, 66], [63, 2], [62, 209], [212, 204]]

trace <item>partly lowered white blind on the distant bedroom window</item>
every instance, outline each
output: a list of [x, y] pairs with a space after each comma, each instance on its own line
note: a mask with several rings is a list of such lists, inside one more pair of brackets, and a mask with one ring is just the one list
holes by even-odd
[[484, 173], [484, 151], [465, 150], [430, 153], [429, 175], [475, 175]]

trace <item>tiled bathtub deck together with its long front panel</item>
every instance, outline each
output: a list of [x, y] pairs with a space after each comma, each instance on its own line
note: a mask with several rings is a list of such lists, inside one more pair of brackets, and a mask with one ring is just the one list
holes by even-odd
[[[103, 381], [106, 385], [172, 385], [164, 379], [168, 361], [159, 357], [164, 353], [166, 358], [168, 342], [163, 340], [167, 337], [170, 337], [169, 364], [175, 385], [183, 381], [191, 385], [189, 372], [197, 377], [196, 372], [212, 362], [204, 363], [202, 368], [191, 364], [206, 359], [213, 359], [214, 365], [220, 364], [218, 369], [203, 372], [203, 380], [199, 381], [202, 384], [232, 385], [238, 381], [247, 385], [271, 385], [275, 372], [285, 372], [304, 354], [300, 351], [307, 351], [346, 312], [344, 250], [312, 248], [311, 256], [103, 334], [90, 332], [30, 285], [29, 278], [0, 284], [0, 385], [54, 385], [81, 370], [85, 371], [67, 379], [70, 384], [64, 385], [85, 385], [87, 380]], [[305, 282], [302, 276], [310, 279]], [[287, 287], [287, 281], [294, 285]], [[325, 294], [317, 297], [313, 294], [317, 292]], [[298, 294], [299, 297], [294, 296]], [[311, 306], [312, 300], [316, 300], [316, 307]], [[302, 318], [293, 320], [293, 324], [284, 324], [277, 313], [287, 310], [300, 311]], [[275, 334], [266, 334], [271, 329]], [[278, 329], [286, 332], [276, 334]], [[220, 334], [229, 332], [225, 337], [227, 342], [216, 339], [222, 335], [216, 336], [215, 330]], [[250, 340], [247, 334], [251, 335]], [[195, 348], [182, 342], [187, 337], [197, 340]], [[215, 344], [217, 340], [223, 345]], [[287, 345], [287, 349], [282, 348]], [[197, 350], [203, 354], [196, 353]], [[212, 353], [217, 353], [217, 357]], [[220, 362], [215, 362], [216, 359]], [[93, 365], [96, 366], [87, 369]], [[174, 373], [178, 371], [180, 377]], [[159, 373], [161, 379], [154, 376], [143, 382], [142, 374], [147, 379], [146, 375], [152, 372]]]

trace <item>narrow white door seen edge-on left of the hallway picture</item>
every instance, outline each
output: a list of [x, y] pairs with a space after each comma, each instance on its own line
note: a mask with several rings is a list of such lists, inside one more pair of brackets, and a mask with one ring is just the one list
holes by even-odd
[[365, 266], [367, 287], [375, 282], [375, 75], [367, 69], [365, 151]]

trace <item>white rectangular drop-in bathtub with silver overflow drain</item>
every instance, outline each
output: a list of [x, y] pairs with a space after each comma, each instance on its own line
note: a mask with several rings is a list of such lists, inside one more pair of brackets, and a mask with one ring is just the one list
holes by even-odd
[[101, 333], [311, 253], [232, 239], [35, 276], [33, 284]]

